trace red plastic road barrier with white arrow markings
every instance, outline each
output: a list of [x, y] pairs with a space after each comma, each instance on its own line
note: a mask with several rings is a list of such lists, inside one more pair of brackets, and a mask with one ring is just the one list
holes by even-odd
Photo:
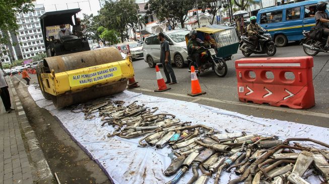
[[315, 105], [313, 58], [245, 58], [235, 61], [241, 102], [308, 109]]

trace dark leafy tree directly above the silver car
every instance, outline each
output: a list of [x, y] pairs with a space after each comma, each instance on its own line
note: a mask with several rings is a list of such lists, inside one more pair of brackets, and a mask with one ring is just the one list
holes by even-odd
[[175, 29], [178, 23], [184, 28], [187, 13], [193, 6], [189, 0], [150, 0], [144, 9], [147, 10], [147, 14], [155, 13], [160, 22], [166, 20], [172, 29]]

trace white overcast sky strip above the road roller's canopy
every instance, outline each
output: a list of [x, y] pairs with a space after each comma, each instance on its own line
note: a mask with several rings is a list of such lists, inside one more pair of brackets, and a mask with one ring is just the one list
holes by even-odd
[[77, 15], [78, 17], [83, 17], [82, 14], [96, 15], [100, 9], [98, 0], [36, 0], [36, 4], [43, 4], [46, 12], [56, 11], [56, 9], [58, 11], [80, 7], [82, 11]]

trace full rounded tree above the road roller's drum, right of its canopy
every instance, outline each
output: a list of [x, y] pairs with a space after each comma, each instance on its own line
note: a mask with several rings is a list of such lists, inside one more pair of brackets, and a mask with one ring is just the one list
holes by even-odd
[[129, 23], [137, 23], [138, 5], [135, 0], [110, 0], [99, 11], [100, 22], [104, 28], [119, 32], [121, 42], [128, 37], [127, 26]]

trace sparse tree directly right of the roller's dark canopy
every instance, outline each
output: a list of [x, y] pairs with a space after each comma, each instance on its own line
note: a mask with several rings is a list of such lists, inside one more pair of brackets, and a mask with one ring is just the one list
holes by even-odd
[[101, 41], [105, 45], [105, 40], [100, 37], [102, 32], [98, 31], [98, 28], [102, 25], [100, 21], [100, 16], [94, 16], [83, 14], [84, 19], [82, 20], [82, 23], [86, 25], [86, 36], [91, 38], [92, 40], [96, 40], [99, 46], [99, 41]]

